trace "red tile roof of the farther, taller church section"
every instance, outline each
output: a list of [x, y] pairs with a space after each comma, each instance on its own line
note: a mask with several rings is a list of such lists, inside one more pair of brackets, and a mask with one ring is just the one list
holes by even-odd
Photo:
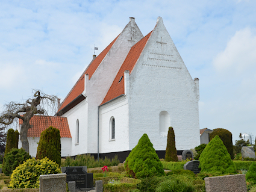
[[99, 67], [99, 64], [101, 64], [101, 61], [105, 58], [108, 51], [110, 51], [110, 48], [113, 46], [114, 42], [116, 42], [117, 38], [113, 40], [113, 42], [110, 43], [110, 45], [105, 48], [101, 54], [98, 55], [98, 57], [95, 58], [95, 60], [92, 61], [92, 63], [89, 64], [89, 66], [86, 68], [86, 70], [83, 72], [83, 75], [78, 79], [76, 84], [73, 86], [72, 90], [70, 90], [69, 94], [67, 94], [66, 98], [62, 102], [60, 108], [58, 111], [62, 110], [64, 107], [66, 107], [67, 104], [72, 102], [76, 97], [78, 97], [80, 94], [84, 91], [84, 75], [88, 74], [89, 79], [92, 77], [95, 70]]

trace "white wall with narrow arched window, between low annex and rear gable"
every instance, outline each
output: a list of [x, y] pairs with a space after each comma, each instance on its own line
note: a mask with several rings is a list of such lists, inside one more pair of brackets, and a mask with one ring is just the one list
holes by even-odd
[[[87, 153], [87, 99], [80, 102], [80, 104], [73, 107], [67, 113], [63, 114], [63, 117], [67, 117], [67, 122], [69, 123], [70, 134], [72, 136], [72, 141], [70, 143], [71, 147], [64, 149], [69, 156], [79, 155]], [[79, 143], [76, 143], [76, 120], [79, 120]]]

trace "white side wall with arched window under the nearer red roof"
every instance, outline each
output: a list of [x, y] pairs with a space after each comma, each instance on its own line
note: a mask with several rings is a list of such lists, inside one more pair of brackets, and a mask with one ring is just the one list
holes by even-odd
[[[128, 99], [122, 96], [101, 107], [99, 153], [129, 150], [129, 109]], [[110, 119], [114, 117], [115, 138], [111, 140]]]

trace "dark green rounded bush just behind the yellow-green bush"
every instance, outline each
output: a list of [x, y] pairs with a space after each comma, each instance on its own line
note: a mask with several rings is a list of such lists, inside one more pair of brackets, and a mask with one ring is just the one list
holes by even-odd
[[27, 161], [27, 159], [30, 159], [31, 156], [29, 153], [25, 152], [24, 149], [11, 149], [10, 152], [8, 152], [4, 156], [4, 164], [2, 165], [2, 172], [5, 175], [11, 175], [13, 173], [13, 170], [16, 169], [17, 166], [22, 164], [24, 161]]

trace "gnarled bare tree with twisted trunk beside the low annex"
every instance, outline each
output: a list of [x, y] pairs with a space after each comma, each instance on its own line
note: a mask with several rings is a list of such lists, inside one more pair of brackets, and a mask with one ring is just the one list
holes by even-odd
[[23, 104], [17, 102], [10, 102], [5, 104], [5, 109], [0, 116], [0, 125], [11, 125], [14, 119], [21, 119], [22, 125], [20, 127], [20, 141], [22, 142], [22, 148], [26, 152], [29, 152], [28, 145], [28, 129], [32, 128], [30, 125], [30, 119], [35, 114], [45, 114], [46, 110], [43, 109], [45, 105], [54, 107], [57, 103], [56, 96], [50, 96], [40, 91], [34, 93], [34, 98], [28, 99]]

